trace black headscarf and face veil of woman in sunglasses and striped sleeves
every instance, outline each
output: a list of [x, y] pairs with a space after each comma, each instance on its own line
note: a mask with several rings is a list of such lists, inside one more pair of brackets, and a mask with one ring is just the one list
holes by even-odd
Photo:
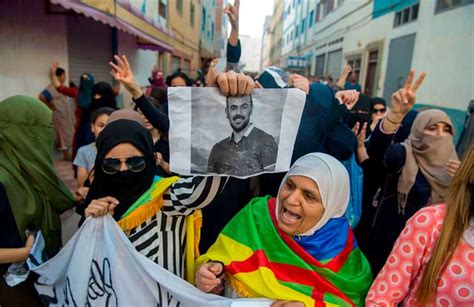
[[[146, 167], [141, 172], [117, 172], [109, 175], [102, 170], [105, 155], [115, 146], [130, 143], [143, 153]], [[119, 119], [109, 123], [100, 133], [96, 141], [97, 157], [95, 159], [94, 181], [90, 187], [85, 206], [101, 197], [113, 196], [120, 202], [114, 211], [114, 218], [119, 220], [128, 208], [153, 183], [155, 174], [155, 156], [153, 139], [150, 132], [133, 120]]]

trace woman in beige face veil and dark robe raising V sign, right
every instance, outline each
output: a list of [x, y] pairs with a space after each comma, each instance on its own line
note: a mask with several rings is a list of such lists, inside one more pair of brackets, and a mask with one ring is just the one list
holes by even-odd
[[407, 220], [426, 205], [445, 201], [451, 177], [459, 166], [453, 125], [440, 110], [418, 113], [408, 138], [392, 144], [425, 77], [422, 74], [413, 83], [414, 74], [412, 70], [405, 86], [392, 95], [391, 110], [372, 133], [368, 145], [370, 159], [384, 161], [388, 173], [366, 250], [375, 274], [387, 260]]

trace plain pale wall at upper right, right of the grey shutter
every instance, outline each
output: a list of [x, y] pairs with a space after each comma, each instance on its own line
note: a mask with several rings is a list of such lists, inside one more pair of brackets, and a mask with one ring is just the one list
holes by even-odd
[[434, 9], [434, 1], [420, 5], [412, 63], [427, 77], [418, 101], [466, 110], [474, 99], [474, 5]]

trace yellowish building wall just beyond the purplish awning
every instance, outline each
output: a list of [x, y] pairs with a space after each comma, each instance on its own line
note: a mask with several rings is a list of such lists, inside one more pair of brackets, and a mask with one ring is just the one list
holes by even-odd
[[[178, 0], [168, 0], [168, 28], [174, 37], [169, 42], [174, 47], [172, 54], [166, 54], [167, 61], [166, 74], [173, 73], [171, 59], [180, 58], [180, 68], [184, 68], [185, 60], [190, 61], [191, 71], [189, 75], [193, 78], [197, 76], [200, 68], [199, 40], [201, 26], [201, 2], [199, 0], [181, 0], [182, 12], [178, 11]], [[194, 24], [191, 24], [191, 5], [194, 4]], [[187, 71], [184, 71], [188, 73]]]

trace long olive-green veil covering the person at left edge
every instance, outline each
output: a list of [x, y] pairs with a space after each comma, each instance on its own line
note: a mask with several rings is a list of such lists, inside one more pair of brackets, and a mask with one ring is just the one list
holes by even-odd
[[53, 166], [52, 112], [39, 100], [13, 96], [0, 102], [0, 182], [7, 192], [18, 232], [39, 226], [46, 252], [61, 248], [59, 214], [74, 198]]

